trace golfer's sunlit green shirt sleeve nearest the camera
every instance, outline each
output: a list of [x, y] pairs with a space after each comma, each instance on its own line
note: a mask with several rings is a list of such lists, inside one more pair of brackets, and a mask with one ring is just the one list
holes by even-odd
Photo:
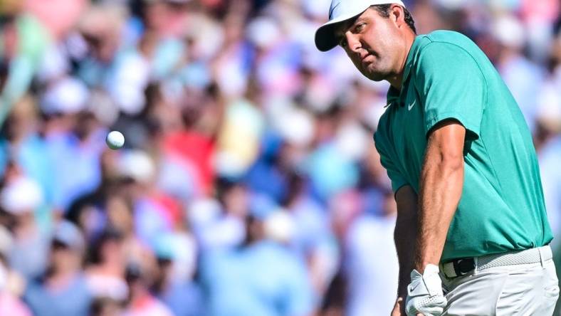
[[442, 120], [466, 127], [466, 138], [479, 138], [486, 103], [486, 81], [478, 63], [453, 43], [430, 43], [419, 56], [416, 88], [424, 104], [425, 135]]

